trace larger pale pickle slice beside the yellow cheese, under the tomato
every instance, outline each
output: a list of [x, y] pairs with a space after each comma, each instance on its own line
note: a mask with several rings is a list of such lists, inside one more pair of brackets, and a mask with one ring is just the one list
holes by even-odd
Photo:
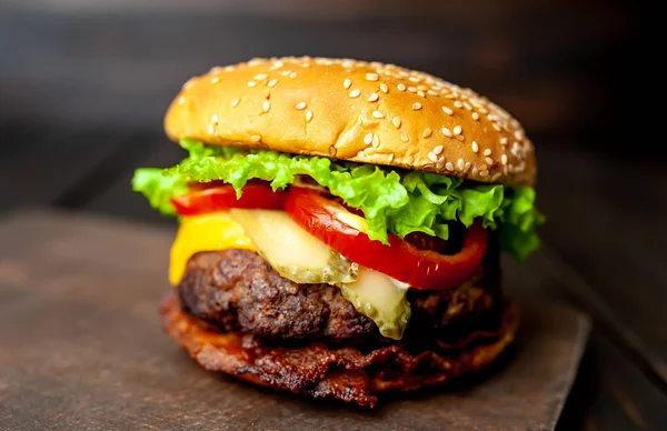
[[285, 211], [232, 209], [229, 214], [281, 277], [297, 283], [349, 283], [357, 279], [357, 263], [308, 233]]

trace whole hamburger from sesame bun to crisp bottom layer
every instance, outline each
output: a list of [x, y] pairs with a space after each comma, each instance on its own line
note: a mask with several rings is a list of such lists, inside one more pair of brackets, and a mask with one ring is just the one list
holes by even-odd
[[133, 190], [179, 230], [165, 331], [205, 369], [372, 408], [511, 343], [501, 252], [539, 247], [536, 160], [470, 89], [392, 64], [272, 58], [185, 83], [187, 157]]

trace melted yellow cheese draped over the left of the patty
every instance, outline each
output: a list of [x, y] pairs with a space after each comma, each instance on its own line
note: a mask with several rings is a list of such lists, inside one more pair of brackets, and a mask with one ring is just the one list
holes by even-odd
[[243, 228], [227, 212], [183, 217], [171, 245], [169, 281], [173, 285], [180, 282], [192, 254], [226, 249], [255, 250]]

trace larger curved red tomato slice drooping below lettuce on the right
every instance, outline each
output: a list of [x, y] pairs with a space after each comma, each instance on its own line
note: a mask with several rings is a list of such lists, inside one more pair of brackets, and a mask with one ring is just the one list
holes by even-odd
[[488, 232], [475, 223], [466, 231], [461, 250], [452, 255], [420, 250], [396, 234], [389, 234], [389, 245], [385, 245], [340, 221], [337, 213], [347, 210], [315, 190], [290, 188], [285, 210], [299, 225], [351, 261], [418, 289], [448, 289], [467, 281], [488, 244]]

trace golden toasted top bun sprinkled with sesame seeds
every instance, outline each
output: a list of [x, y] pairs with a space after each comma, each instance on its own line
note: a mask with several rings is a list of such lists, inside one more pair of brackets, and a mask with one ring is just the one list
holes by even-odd
[[172, 140], [263, 148], [534, 184], [519, 122], [469, 89], [392, 64], [255, 59], [183, 86], [165, 118]]

